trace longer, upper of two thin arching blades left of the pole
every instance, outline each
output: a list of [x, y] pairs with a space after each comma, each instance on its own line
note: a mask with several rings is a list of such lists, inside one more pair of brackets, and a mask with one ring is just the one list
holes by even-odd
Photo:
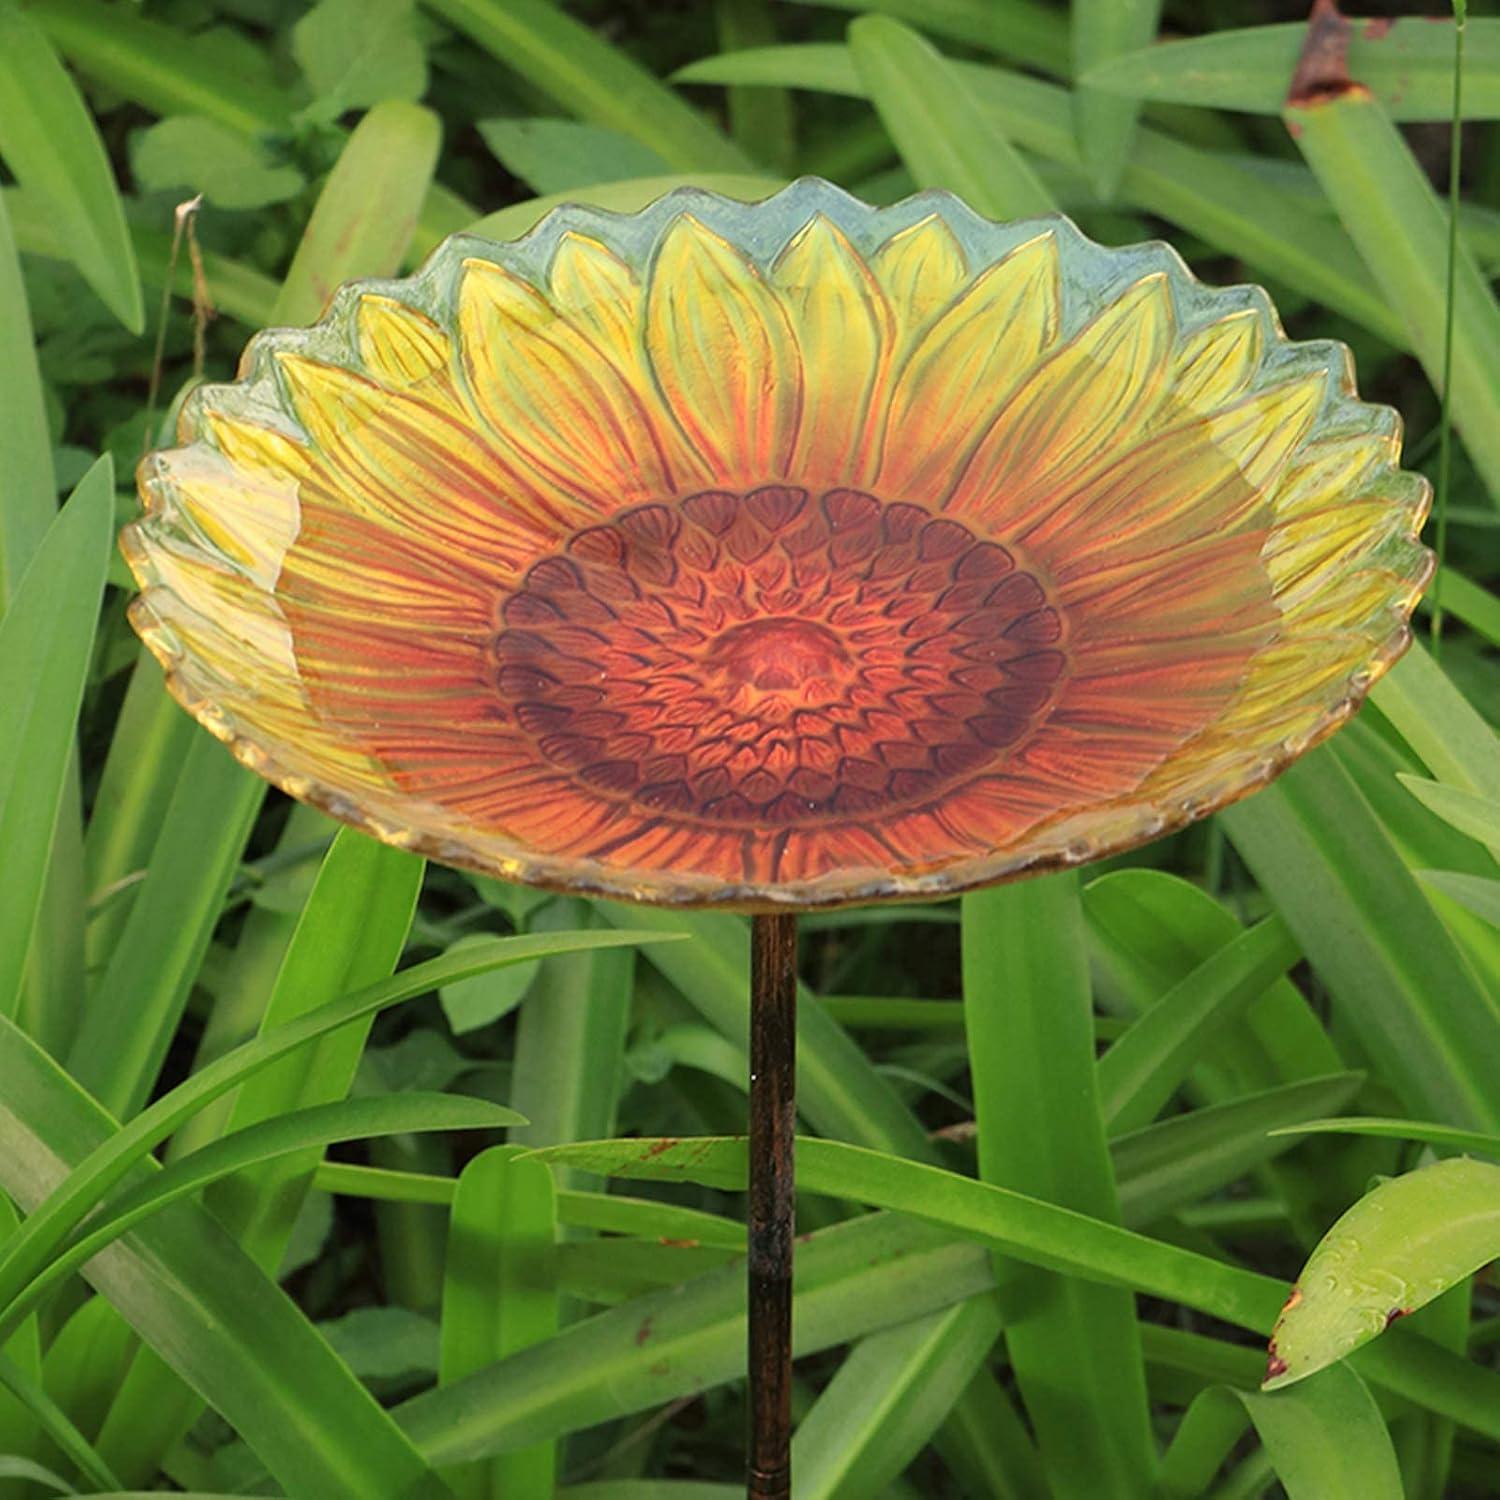
[[[534, 938], [504, 938], [492, 944], [465, 946], [428, 963], [412, 964], [380, 984], [346, 994], [328, 1005], [278, 1026], [266, 1036], [244, 1042], [234, 1052], [208, 1064], [170, 1094], [162, 1095], [128, 1125], [102, 1142], [78, 1162], [66, 1180], [51, 1192], [4, 1245], [0, 1245], [0, 1304], [34, 1276], [74, 1226], [99, 1198], [110, 1191], [142, 1156], [165, 1140], [184, 1119], [204, 1104], [243, 1083], [261, 1068], [270, 1066], [298, 1047], [351, 1022], [398, 1005], [416, 994], [424, 994], [442, 984], [483, 974], [506, 963], [525, 963], [554, 952], [582, 948], [612, 948], [627, 944], [669, 940], [672, 933], [542, 933]], [[0, 1065], [20, 1054], [24, 1038], [10, 1024], [0, 1022]]]

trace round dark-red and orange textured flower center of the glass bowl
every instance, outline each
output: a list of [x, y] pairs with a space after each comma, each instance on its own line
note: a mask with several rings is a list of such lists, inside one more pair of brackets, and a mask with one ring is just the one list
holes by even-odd
[[968, 526], [771, 484], [570, 537], [502, 602], [495, 687], [598, 794], [790, 825], [922, 804], [1005, 759], [1053, 702], [1062, 636]]

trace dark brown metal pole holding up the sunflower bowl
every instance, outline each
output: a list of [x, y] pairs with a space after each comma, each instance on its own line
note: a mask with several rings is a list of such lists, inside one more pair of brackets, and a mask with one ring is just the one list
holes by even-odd
[[792, 1136], [796, 916], [750, 922], [750, 1442], [746, 1494], [792, 1488]]

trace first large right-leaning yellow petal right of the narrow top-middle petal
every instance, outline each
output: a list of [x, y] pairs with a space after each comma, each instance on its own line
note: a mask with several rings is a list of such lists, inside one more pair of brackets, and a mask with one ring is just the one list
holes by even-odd
[[[933, 322], [896, 378], [880, 489], [938, 500], [1058, 336], [1058, 242], [1028, 240]], [[1004, 420], [1004, 418], [1002, 418]]]

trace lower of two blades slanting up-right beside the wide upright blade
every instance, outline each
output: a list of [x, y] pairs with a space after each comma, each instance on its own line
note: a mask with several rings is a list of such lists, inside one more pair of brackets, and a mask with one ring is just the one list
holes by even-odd
[[1364, 1082], [1362, 1072], [1304, 1078], [1119, 1136], [1120, 1218], [1144, 1227], [1227, 1188], [1288, 1144], [1272, 1134], [1278, 1126], [1348, 1104]]

